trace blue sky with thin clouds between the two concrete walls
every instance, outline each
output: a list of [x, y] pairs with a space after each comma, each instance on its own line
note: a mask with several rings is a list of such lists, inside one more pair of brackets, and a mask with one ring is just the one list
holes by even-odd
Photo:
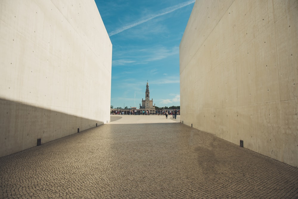
[[180, 106], [179, 44], [195, 0], [95, 0], [110, 36], [111, 105]]

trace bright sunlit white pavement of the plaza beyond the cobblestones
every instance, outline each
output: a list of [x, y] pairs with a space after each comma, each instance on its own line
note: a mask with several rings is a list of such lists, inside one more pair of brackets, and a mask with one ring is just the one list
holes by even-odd
[[173, 119], [172, 115], [111, 115], [111, 122], [108, 124], [141, 124], [141, 123], [177, 123], [180, 122], [180, 115]]

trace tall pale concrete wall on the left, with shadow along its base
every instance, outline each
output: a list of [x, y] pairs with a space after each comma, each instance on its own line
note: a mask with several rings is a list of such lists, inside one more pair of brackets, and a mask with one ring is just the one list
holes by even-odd
[[0, 157], [108, 122], [111, 59], [94, 0], [0, 0]]

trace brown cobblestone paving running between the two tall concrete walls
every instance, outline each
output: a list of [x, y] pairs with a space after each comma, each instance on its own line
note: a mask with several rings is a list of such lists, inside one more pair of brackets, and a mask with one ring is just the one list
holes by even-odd
[[0, 158], [0, 198], [298, 198], [296, 167], [173, 119], [111, 118]]

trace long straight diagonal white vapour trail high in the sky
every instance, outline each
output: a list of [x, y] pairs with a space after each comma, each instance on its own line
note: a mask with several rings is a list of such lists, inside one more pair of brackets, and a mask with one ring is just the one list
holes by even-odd
[[155, 15], [148, 15], [148, 16], [146, 16], [145, 18], [143, 18], [140, 21], [136, 21], [136, 22], [134, 22], [132, 24], [128, 24], [128, 25], [123, 26], [123, 27], [121, 27], [121, 28], [119, 28], [117, 30], [114, 30], [114, 31], [112, 31], [112, 32], [109, 33], [109, 36], [111, 37], [111, 36], [116, 35], [116, 34], [118, 34], [120, 32], [123, 32], [123, 31], [125, 31], [127, 29], [130, 29], [132, 27], [135, 27], [135, 26], [137, 26], [139, 24], [145, 23], [146, 21], [149, 21], [149, 20], [151, 20], [153, 18], [156, 18], [156, 17], [162, 16], [162, 15], [171, 13], [171, 12], [173, 12], [175, 10], [178, 10], [180, 8], [183, 8], [185, 6], [188, 6], [189, 4], [193, 4], [194, 2], [195, 2], [195, 0], [191, 0], [191, 1], [187, 1], [187, 2], [184, 2], [184, 3], [178, 4], [178, 5], [172, 6], [172, 7], [165, 8], [164, 10], [161, 10], [160, 13], [157, 13]]

